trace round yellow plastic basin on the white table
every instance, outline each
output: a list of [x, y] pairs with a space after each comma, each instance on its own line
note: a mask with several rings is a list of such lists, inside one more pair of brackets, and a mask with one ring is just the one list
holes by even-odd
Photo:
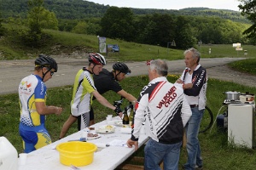
[[72, 141], [58, 144], [56, 150], [60, 152], [60, 161], [63, 165], [81, 167], [93, 161], [96, 144], [89, 142]]

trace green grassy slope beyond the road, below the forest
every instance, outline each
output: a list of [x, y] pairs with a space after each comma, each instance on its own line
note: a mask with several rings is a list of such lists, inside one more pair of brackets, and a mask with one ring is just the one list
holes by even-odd
[[[19, 30], [20, 27], [3, 25], [9, 30]], [[0, 59], [31, 59], [38, 54], [72, 54], [79, 51], [83, 53], [98, 52], [98, 38], [96, 36], [75, 34], [65, 31], [44, 30], [44, 33], [50, 35], [49, 41], [44, 42], [40, 48], [25, 47], [22, 42], [17, 41], [17, 36], [5, 36], [0, 39]], [[159, 47], [157, 45], [140, 44], [136, 42], [125, 42], [119, 39], [107, 37], [107, 44], [119, 44], [119, 53], [108, 53], [107, 59], [119, 61], [144, 61], [148, 59], [183, 59], [183, 51], [180, 49]], [[256, 48], [251, 45], [241, 47], [247, 50], [247, 58], [256, 58]], [[198, 48], [202, 58], [216, 57], [245, 57], [243, 51], [236, 51], [232, 44], [203, 44]], [[211, 48], [211, 54], [209, 54]], [[104, 54], [107, 55], [107, 54]]]

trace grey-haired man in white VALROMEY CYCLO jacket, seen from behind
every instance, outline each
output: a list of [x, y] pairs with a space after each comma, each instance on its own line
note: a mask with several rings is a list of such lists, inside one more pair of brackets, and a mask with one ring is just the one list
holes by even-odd
[[138, 148], [139, 131], [145, 122], [150, 137], [144, 148], [145, 169], [158, 169], [164, 161], [165, 170], [177, 170], [183, 127], [192, 115], [183, 88], [168, 82], [168, 66], [164, 60], [151, 60], [148, 66], [149, 83], [143, 88], [135, 105], [131, 139], [128, 147]]

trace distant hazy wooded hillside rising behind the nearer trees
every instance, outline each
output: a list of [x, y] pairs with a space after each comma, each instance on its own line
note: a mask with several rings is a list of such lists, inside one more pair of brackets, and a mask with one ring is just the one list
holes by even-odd
[[[0, 0], [0, 11], [3, 18], [17, 17], [26, 18], [28, 0]], [[84, 19], [90, 17], [102, 17], [110, 7], [98, 3], [91, 3], [83, 0], [44, 0], [45, 8], [53, 11], [58, 19]], [[212, 8], [183, 8], [154, 9], [154, 8], [131, 8], [134, 14], [176, 14], [190, 16], [214, 16], [226, 20], [233, 20], [241, 23], [249, 21], [241, 16], [240, 12], [227, 9]]]

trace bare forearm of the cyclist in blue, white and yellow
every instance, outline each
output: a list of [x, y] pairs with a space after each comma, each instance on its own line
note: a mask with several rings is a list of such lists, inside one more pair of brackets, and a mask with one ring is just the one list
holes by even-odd
[[61, 115], [62, 108], [53, 106], [53, 105], [45, 105], [44, 102], [36, 102], [36, 108], [39, 115], [49, 115], [49, 114], [56, 114]]

